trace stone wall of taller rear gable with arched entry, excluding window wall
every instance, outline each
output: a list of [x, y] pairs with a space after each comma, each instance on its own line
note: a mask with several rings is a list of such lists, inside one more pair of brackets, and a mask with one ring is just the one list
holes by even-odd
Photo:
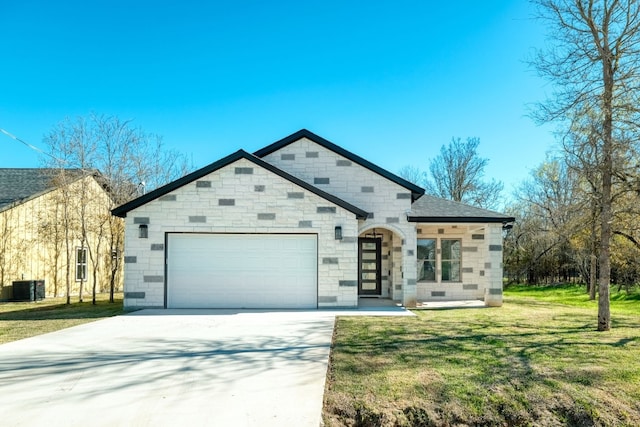
[[407, 221], [411, 209], [408, 189], [307, 138], [263, 160], [370, 212], [369, 218], [358, 222], [355, 237], [374, 230], [383, 235], [381, 296], [407, 307], [416, 305], [416, 227]]

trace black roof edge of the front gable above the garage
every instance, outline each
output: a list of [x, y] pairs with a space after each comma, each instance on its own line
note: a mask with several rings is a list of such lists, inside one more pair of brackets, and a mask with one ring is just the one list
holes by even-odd
[[227, 157], [224, 157], [220, 160], [218, 160], [217, 162], [211, 163], [208, 166], [205, 166], [201, 169], [198, 169], [195, 172], [192, 172], [188, 175], [183, 176], [180, 179], [177, 179], [173, 182], [170, 182], [169, 184], [162, 186], [156, 190], [153, 190], [143, 196], [138, 197], [137, 199], [134, 199], [128, 203], [125, 203], [124, 205], [118, 206], [117, 208], [113, 209], [111, 211], [112, 214], [114, 214], [115, 216], [119, 216], [121, 218], [124, 218], [127, 216], [127, 212], [140, 207], [146, 203], [151, 202], [152, 200], [157, 199], [160, 196], [163, 196], [173, 190], [176, 190], [180, 187], [183, 187], [199, 178], [202, 178], [203, 176], [206, 176], [212, 172], [217, 171], [218, 169], [221, 169], [225, 166], [228, 166], [232, 163], [235, 163], [236, 161], [240, 160], [240, 159], [246, 159], [252, 163], [254, 163], [257, 166], [260, 166], [264, 169], [267, 169], [270, 172], [273, 172], [274, 174], [298, 185], [299, 187], [304, 188], [305, 190], [308, 190], [320, 197], [322, 197], [323, 199], [337, 205], [340, 206], [341, 208], [344, 208], [346, 210], [348, 210], [349, 212], [353, 213], [356, 215], [356, 217], [358, 219], [365, 219], [367, 218], [367, 216], [369, 216], [369, 213], [356, 207], [353, 206], [352, 204], [345, 202], [344, 200], [333, 196], [329, 193], [326, 193], [322, 190], [319, 190], [318, 188], [314, 187], [311, 184], [308, 184], [304, 181], [302, 181], [301, 179], [296, 178], [293, 175], [289, 175], [288, 173], [286, 173], [285, 171], [278, 169], [277, 167], [265, 162], [262, 159], [259, 159], [258, 157], [247, 153], [244, 150], [238, 150], [233, 154], [228, 155]]

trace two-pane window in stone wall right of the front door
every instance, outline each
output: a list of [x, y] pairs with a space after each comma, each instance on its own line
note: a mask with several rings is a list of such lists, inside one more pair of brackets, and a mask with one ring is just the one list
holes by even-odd
[[[440, 249], [439, 256], [438, 249]], [[418, 239], [418, 281], [460, 282], [462, 280], [461, 253], [460, 239]], [[438, 271], [440, 277], [436, 274]]]

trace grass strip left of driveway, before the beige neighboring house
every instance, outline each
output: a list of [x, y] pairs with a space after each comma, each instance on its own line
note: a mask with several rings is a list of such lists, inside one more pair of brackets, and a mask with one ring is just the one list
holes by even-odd
[[0, 303], [0, 344], [45, 334], [83, 323], [93, 322], [124, 312], [122, 293], [116, 294], [115, 302], [109, 303], [108, 294], [99, 294], [96, 305], [91, 297], [77, 302], [73, 297], [70, 305], [66, 298], [47, 298], [36, 302]]

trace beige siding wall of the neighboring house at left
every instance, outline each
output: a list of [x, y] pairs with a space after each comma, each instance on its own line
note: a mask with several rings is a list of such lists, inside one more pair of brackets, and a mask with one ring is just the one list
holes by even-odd
[[[83, 203], [80, 197], [86, 191]], [[67, 257], [65, 230], [63, 221], [64, 200], [69, 199], [70, 256]], [[11, 285], [17, 280], [45, 280], [46, 294], [66, 295], [67, 265], [71, 295], [77, 295], [80, 282], [76, 281], [76, 248], [80, 247], [79, 238], [81, 204], [85, 206], [88, 218], [88, 241], [85, 244], [96, 259], [96, 266], [88, 259], [88, 282], [84, 283], [84, 294], [91, 292], [93, 271], [97, 269], [97, 290], [108, 289], [110, 251], [95, 229], [99, 224], [111, 218], [110, 200], [104, 190], [89, 177], [76, 181], [61, 190], [54, 190], [39, 197], [0, 212], [0, 284]], [[105, 231], [106, 233], [106, 231]], [[121, 286], [121, 279], [117, 282]], [[6, 296], [6, 291], [5, 291]]]

